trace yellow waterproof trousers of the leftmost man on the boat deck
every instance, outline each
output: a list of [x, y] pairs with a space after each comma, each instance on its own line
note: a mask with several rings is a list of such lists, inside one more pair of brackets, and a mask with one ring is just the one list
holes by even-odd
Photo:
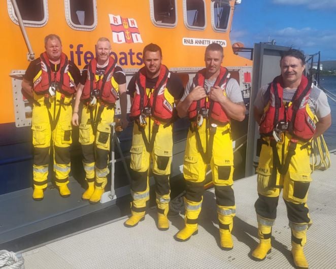
[[65, 97], [56, 91], [54, 98], [33, 94], [35, 104], [32, 108], [33, 184], [35, 188], [47, 187], [50, 141], [53, 141], [54, 172], [57, 186], [69, 183], [72, 96]]

